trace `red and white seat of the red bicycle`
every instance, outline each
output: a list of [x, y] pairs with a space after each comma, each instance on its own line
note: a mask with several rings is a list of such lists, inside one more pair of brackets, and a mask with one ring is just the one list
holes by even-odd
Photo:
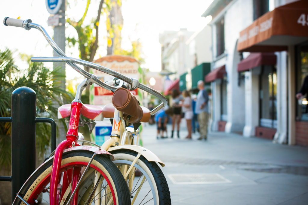
[[[81, 115], [91, 119], [102, 121], [104, 119], [103, 116], [103, 108], [98, 105], [91, 104], [83, 104], [81, 109]], [[65, 118], [71, 115], [71, 104], [64, 104], [58, 108], [58, 118]]]

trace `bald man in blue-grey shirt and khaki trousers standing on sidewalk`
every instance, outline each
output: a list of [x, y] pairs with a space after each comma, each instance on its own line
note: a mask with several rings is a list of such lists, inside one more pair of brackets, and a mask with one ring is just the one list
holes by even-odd
[[209, 96], [204, 89], [204, 82], [198, 81], [197, 83], [199, 93], [197, 95], [195, 112], [198, 114], [198, 123], [200, 128], [200, 137], [198, 140], [207, 139], [208, 121], [209, 121]]

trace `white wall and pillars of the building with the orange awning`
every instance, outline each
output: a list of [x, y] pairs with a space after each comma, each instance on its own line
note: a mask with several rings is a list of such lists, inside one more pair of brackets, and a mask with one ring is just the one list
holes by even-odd
[[[282, 6], [296, 0], [270, 0], [274, 1], [274, 7]], [[216, 57], [216, 27], [215, 23], [224, 16], [225, 19], [225, 56]], [[212, 43], [213, 43], [213, 63], [212, 69], [221, 65], [226, 66], [227, 71], [227, 115], [228, 122], [225, 127], [225, 132], [237, 132], [242, 129], [243, 136], [253, 136], [255, 127], [259, 125], [259, 74], [261, 68], [254, 68], [251, 71], [245, 72], [245, 86], [238, 86], [238, 73], [236, 43], [241, 30], [244, 30], [253, 22], [253, 1], [252, 0], [233, 0], [218, 14], [211, 22], [212, 26]], [[287, 52], [276, 52], [277, 55], [277, 132], [274, 136], [274, 142], [286, 143], [289, 138], [289, 144], [294, 143], [294, 137], [291, 137], [291, 127], [289, 121], [294, 121], [294, 116], [291, 116], [288, 104], [290, 96], [288, 96], [291, 80], [288, 71], [294, 70], [294, 65], [289, 62], [287, 65]], [[249, 55], [244, 52], [244, 58]], [[289, 55], [294, 55], [293, 53]], [[292, 60], [292, 59], [291, 59]], [[291, 61], [289, 59], [289, 61]], [[289, 68], [288, 68], [289, 66]], [[289, 70], [288, 70], [289, 69]], [[220, 81], [212, 83], [213, 90], [213, 125], [212, 130], [217, 131], [218, 121], [221, 120], [221, 92]], [[293, 97], [294, 98], [294, 97]], [[292, 99], [293, 99], [292, 98]], [[290, 108], [291, 107], [291, 108]], [[289, 108], [289, 109], [288, 109]], [[293, 118], [292, 118], [293, 117]], [[288, 124], [289, 123], [289, 124]], [[288, 128], [289, 127], [289, 128]], [[289, 131], [288, 131], [289, 129]], [[291, 131], [290, 131], [291, 130]]]

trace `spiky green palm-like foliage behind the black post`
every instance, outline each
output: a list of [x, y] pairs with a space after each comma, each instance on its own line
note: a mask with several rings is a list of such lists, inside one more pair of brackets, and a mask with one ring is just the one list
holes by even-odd
[[[26, 57], [28, 69], [18, 69], [14, 65], [12, 52], [9, 49], [0, 50], [0, 114], [11, 116], [11, 93], [21, 86], [26, 86], [36, 92], [36, 112], [38, 117], [55, 118], [57, 104], [71, 101], [73, 96], [60, 86], [63, 79], [59, 69], [49, 70], [43, 63], [32, 63]], [[60, 97], [59, 97], [60, 96]], [[0, 123], [0, 166], [10, 166], [10, 123]], [[43, 156], [51, 142], [51, 128], [47, 123], [36, 124], [36, 147]]]

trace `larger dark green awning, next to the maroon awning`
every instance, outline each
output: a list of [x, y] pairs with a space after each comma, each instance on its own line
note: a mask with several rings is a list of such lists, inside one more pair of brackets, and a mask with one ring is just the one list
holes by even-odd
[[[192, 89], [197, 88], [197, 82], [202, 80], [211, 71], [211, 63], [201, 63], [191, 70], [192, 73]], [[211, 85], [211, 83], [205, 83], [205, 85]]]

